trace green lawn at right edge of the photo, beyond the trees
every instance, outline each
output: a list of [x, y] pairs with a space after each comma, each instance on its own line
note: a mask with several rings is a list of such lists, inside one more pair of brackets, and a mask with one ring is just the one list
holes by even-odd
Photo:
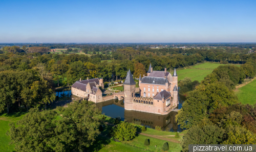
[[256, 79], [252, 82], [242, 86], [238, 89], [239, 91], [236, 92], [238, 96], [238, 100], [243, 104], [256, 104]]

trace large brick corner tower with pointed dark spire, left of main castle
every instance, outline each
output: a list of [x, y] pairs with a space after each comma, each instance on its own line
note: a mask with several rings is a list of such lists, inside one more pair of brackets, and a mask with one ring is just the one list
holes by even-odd
[[125, 81], [123, 82], [124, 89], [124, 109], [133, 109], [133, 98], [135, 97], [136, 82], [133, 79], [133, 75], [129, 69], [127, 72]]

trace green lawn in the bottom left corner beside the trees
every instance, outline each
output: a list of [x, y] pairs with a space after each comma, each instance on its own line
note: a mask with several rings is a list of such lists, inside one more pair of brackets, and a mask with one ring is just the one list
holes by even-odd
[[7, 115], [2, 114], [0, 116], [0, 151], [1, 152], [9, 152], [14, 151], [14, 145], [9, 145], [10, 137], [6, 135], [7, 131], [9, 130], [9, 123], [16, 122], [19, 119], [22, 119], [24, 114], [17, 114], [17, 115]]

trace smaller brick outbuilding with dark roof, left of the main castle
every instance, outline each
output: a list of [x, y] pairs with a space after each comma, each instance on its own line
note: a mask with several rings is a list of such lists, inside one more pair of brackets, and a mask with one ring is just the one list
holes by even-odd
[[104, 88], [104, 83], [102, 78], [94, 78], [87, 80], [76, 81], [71, 86], [71, 93], [80, 98], [89, 98], [88, 100], [93, 102], [102, 101], [102, 92], [99, 89], [99, 86]]

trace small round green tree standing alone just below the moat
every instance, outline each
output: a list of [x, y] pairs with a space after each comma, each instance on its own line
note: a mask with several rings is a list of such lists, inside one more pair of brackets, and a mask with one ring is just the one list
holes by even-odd
[[113, 127], [114, 137], [120, 141], [129, 141], [135, 138], [136, 127], [128, 122], [122, 122]]

